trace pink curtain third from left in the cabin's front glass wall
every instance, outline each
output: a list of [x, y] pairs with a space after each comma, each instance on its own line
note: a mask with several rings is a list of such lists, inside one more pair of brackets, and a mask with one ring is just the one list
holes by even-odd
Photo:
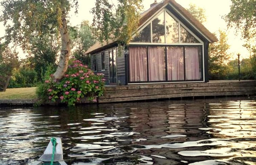
[[167, 47], [168, 80], [184, 80], [183, 47]]

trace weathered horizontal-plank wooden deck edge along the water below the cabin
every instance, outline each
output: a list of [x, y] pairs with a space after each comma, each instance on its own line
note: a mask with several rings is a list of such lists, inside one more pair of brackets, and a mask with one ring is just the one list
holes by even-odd
[[208, 83], [171, 83], [107, 86], [99, 103], [185, 97], [256, 95], [256, 81], [223, 80]]

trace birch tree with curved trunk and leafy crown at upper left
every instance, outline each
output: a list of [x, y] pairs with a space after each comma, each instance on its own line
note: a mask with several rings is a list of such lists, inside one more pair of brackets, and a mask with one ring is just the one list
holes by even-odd
[[62, 48], [54, 78], [61, 79], [67, 71], [70, 56], [67, 14], [71, 7], [77, 7], [77, 0], [4, 0], [1, 5], [0, 21], [5, 26], [7, 44], [14, 43], [26, 50], [31, 47], [29, 41], [33, 36], [43, 37], [57, 29]]

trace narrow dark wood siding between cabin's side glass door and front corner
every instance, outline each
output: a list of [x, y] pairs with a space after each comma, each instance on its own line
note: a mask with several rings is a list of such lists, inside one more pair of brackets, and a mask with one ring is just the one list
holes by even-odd
[[123, 49], [119, 50], [118, 48], [117, 48], [117, 83], [118, 85], [125, 85], [124, 51]]

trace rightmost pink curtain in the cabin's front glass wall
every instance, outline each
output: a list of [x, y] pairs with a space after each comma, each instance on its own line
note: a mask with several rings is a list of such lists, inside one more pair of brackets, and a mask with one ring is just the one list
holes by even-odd
[[198, 47], [185, 47], [186, 80], [200, 80], [200, 61]]

